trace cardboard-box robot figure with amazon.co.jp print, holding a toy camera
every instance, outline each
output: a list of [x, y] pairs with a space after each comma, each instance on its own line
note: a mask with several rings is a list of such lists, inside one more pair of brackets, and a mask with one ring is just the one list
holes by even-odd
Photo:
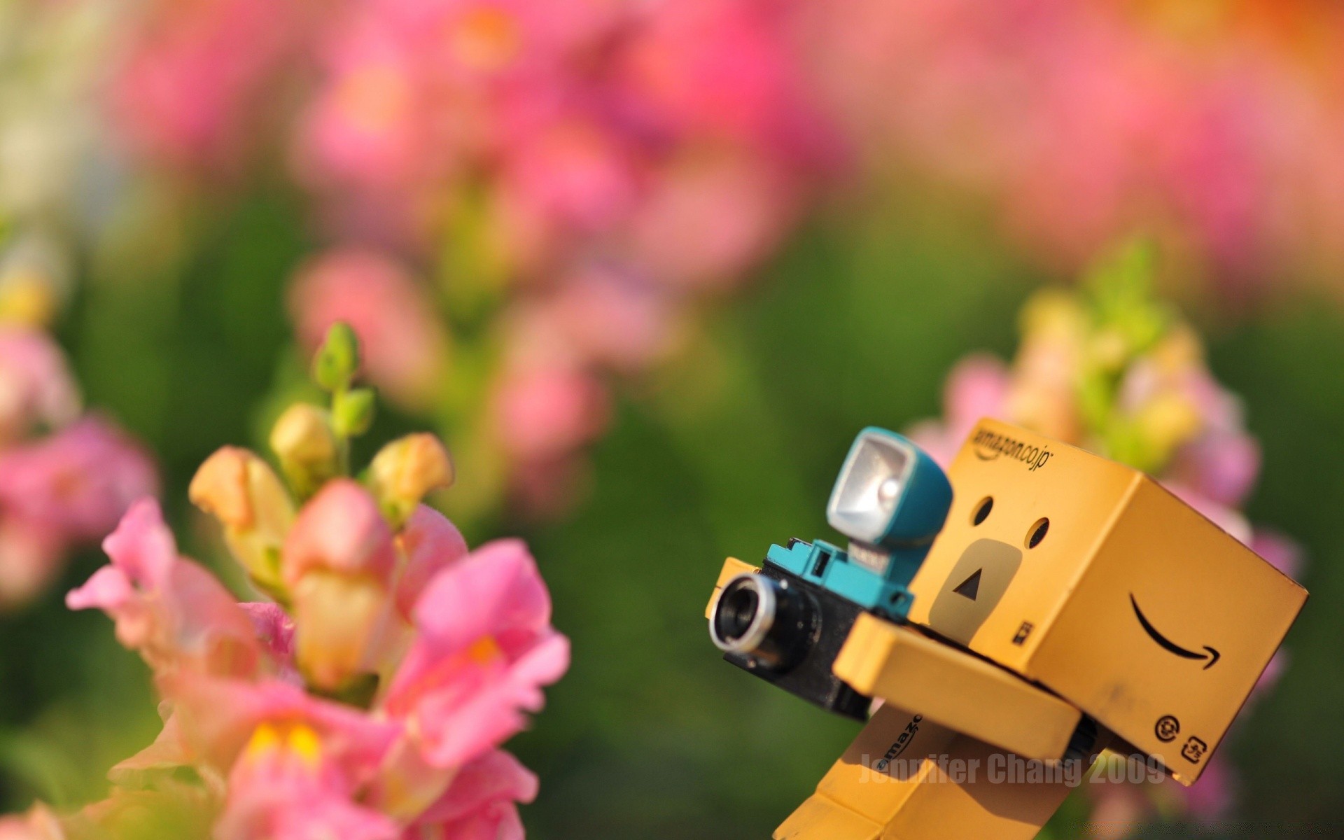
[[946, 476], [866, 429], [827, 520], [847, 548], [730, 558], [708, 607], [730, 663], [884, 702], [780, 840], [1032, 837], [1106, 746], [1191, 785], [1306, 599], [1142, 473], [988, 419]]

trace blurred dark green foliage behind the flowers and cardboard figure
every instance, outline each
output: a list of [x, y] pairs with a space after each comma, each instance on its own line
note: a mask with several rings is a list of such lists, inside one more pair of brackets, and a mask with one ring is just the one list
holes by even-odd
[[[267, 399], [294, 370], [284, 278], [313, 245], [284, 198], [216, 212], [171, 262], [91, 258], [60, 327], [90, 405], [155, 449], [184, 551], [207, 562], [220, 552], [185, 484], [219, 445], [258, 442]], [[474, 539], [531, 540], [574, 641], [573, 669], [513, 742], [543, 780], [524, 809], [532, 836], [765, 837], [810, 792], [856, 727], [719, 660], [702, 617], [716, 571], [726, 555], [825, 535], [855, 431], [937, 414], [953, 362], [1008, 356], [1016, 309], [1044, 281], [960, 208], [906, 196], [835, 212], [708, 308], [675, 364], [624, 388], [571, 517], [469, 526]], [[1236, 319], [1191, 314], [1263, 444], [1249, 513], [1305, 544], [1312, 590], [1290, 669], [1228, 747], [1246, 823], [1210, 836], [1344, 825], [1344, 314], [1304, 296]], [[415, 425], [384, 414], [370, 439]], [[101, 562], [83, 554], [58, 590], [0, 618], [8, 809], [101, 796], [106, 767], [157, 731], [146, 672], [110, 622], [60, 603]], [[1055, 836], [1073, 836], [1078, 810], [1066, 808]], [[1176, 825], [1153, 836], [1164, 832], [1188, 836]]]

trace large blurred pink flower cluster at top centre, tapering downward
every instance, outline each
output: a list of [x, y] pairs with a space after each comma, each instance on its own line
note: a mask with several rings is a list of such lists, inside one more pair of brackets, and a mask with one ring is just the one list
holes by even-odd
[[305, 347], [349, 323], [372, 382], [484, 453], [469, 484], [554, 508], [609, 378], [671, 352], [836, 169], [792, 5], [151, 3], [114, 98], [152, 165], [285, 161], [331, 241], [290, 294]]

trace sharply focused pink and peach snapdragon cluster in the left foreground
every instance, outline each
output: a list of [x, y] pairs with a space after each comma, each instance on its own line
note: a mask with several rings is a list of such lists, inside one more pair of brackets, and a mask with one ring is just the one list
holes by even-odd
[[224, 448], [191, 482], [270, 601], [239, 603], [179, 556], [152, 500], [106, 539], [112, 563], [67, 603], [106, 612], [149, 664], [163, 732], [113, 767], [106, 801], [12, 818], [17, 836], [521, 836], [515, 804], [536, 778], [499, 747], [569, 667], [569, 641], [521, 542], [469, 552], [422, 503], [453, 480], [437, 438], [396, 439], [349, 477], [372, 413], [356, 364], [333, 328], [314, 364], [331, 407], [281, 415], [280, 474]]

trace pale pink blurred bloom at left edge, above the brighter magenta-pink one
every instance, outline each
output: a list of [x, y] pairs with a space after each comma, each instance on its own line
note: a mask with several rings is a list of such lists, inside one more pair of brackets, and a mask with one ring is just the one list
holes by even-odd
[[36, 426], [63, 426], [79, 413], [65, 355], [46, 333], [0, 327], [0, 445]]

